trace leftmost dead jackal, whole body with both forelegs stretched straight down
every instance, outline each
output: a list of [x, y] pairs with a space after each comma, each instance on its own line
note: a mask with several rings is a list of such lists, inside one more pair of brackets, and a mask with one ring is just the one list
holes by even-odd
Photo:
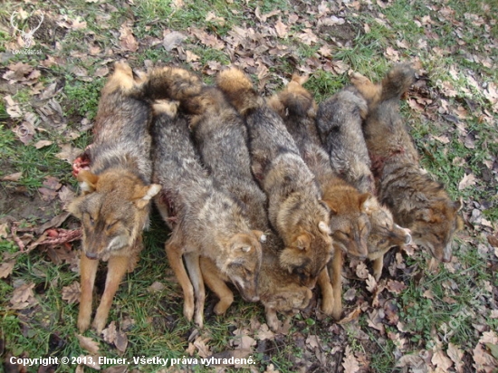
[[133, 271], [148, 226], [150, 199], [160, 186], [150, 184], [151, 113], [141, 100], [142, 81], [128, 64], [118, 62], [101, 92], [95, 138], [89, 150], [90, 170], [81, 171], [81, 196], [68, 207], [81, 220], [81, 300], [78, 328], [87, 330], [99, 260], [109, 261], [105, 291], [93, 328], [101, 331], [123, 275]]

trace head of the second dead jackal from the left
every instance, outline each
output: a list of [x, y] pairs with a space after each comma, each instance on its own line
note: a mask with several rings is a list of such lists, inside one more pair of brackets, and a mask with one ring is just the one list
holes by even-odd
[[235, 234], [227, 243], [228, 256], [220, 258], [223, 272], [235, 285], [245, 301], [259, 301], [257, 292], [265, 235], [261, 231]]

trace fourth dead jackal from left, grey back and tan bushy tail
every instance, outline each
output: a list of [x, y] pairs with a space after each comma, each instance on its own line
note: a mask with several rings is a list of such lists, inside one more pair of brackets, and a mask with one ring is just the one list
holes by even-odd
[[270, 224], [283, 238], [280, 264], [313, 287], [333, 251], [329, 211], [282, 119], [238, 69], [221, 72], [217, 84], [243, 115], [254, 177], [268, 198]]

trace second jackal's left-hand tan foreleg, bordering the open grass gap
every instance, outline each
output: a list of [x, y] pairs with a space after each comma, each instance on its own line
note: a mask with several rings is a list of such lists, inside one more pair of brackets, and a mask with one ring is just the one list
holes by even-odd
[[177, 280], [183, 290], [183, 315], [187, 320], [192, 320], [194, 316], [194, 288], [188, 278], [187, 271], [182, 261], [182, 248], [175, 241], [168, 241], [165, 245], [168, 262], [171, 269], [177, 276]]

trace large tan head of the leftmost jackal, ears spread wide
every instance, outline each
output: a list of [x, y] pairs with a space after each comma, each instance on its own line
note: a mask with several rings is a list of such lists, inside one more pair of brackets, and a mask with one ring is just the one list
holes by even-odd
[[107, 260], [110, 253], [135, 244], [148, 225], [150, 198], [161, 186], [145, 185], [123, 170], [101, 175], [78, 174], [82, 194], [68, 210], [81, 220], [82, 251], [89, 259]]

